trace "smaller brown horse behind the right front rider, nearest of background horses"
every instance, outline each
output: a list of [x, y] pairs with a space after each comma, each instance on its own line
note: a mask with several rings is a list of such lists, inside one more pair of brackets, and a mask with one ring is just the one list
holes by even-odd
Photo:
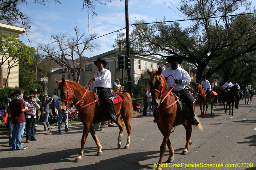
[[[208, 103], [209, 103], [210, 99], [207, 97], [204, 87], [202, 85], [200, 85], [200, 83], [195, 83], [195, 87], [196, 87], [197, 99], [200, 104], [201, 115], [202, 115], [202, 117], [204, 117], [206, 115], [206, 112], [208, 109]], [[212, 95], [211, 95], [211, 97], [212, 97]], [[203, 104], [203, 110], [202, 110], [202, 104]], [[214, 97], [212, 97], [211, 109], [212, 109], [213, 104], [214, 104]], [[206, 110], [204, 112], [205, 105], [206, 105]], [[215, 104], [214, 104], [214, 106], [215, 106]], [[212, 111], [211, 111], [211, 115], [212, 115]]]

